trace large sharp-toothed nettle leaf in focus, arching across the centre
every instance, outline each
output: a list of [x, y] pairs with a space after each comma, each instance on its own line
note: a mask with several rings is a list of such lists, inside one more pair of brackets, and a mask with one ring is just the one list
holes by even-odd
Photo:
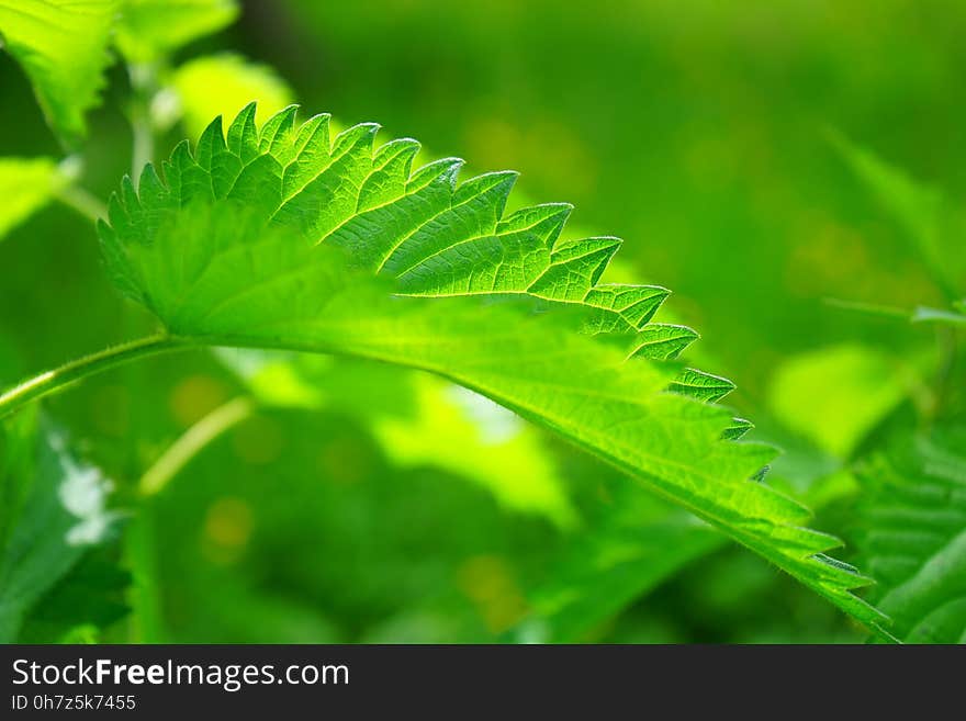
[[733, 385], [634, 351], [663, 289], [602, 282], [620, 241], [560, 241], [571, 206], [505, 213], [516, 173], [413, 170], [419, 144], [378, 126], [329, 135], [295, 108], [259, 129], [249, 105], [164, 181], [125, 179], [100, 234], [108, 272], [190, 342], [280, 348], [430, 371], [609, 461], [774, 562], [862, 622], [867, 579], [827, 560], [838, 539], [753, 481], [771, 447], [722, 440], [710, 401]]

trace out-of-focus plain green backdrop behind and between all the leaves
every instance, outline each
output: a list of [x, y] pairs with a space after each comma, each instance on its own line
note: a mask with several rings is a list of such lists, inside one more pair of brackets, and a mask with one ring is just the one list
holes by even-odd
[[[738, 383], [729, 404], [759, 423], [759, 437], [789, 446], [794, 461], [815, 439], [774, 417], [770, 394], [789, 359], [840, 342], [901, 358], [931, 338], [824, 298], [943, 303], [903, 228], [831, 134], [962, 198], [964, 37], [958, 0], [287, 0], [244, 3], [236, 24], [179, 57], [240, 53], [272, 66], [307, 111], [344, 124], [378, 121], [387, 136], [416, 137], [473, 170], [521, 171], [519, 187], [537, 202], [573, 202], [575, 224], [626, 239], [628, 275], [674, 290], [672, 313], [703, 335], [703, 368]], [[119, 112], [126, 82], [115, 67], [90, 120], [87, 179], [102, 196], [130, 166], [117, 151], [117, 137], [130, 137]], [[0, 108], [0, 155], [58, 154], [7, 56]], [[181, 133], [169, 133], [161, 151]], [[93, 229], [68, 210], [18, 228], [0, 244], [0, 268], [5, 380], [147, 323], [110, 288]], [[94, 379], [49, 408], [116, 480], [123, 507], [124, 488], [153, 459], [242, 391], [196, 352]], [[540, 589], [561, 563], [577, 573], [589, 553], [581, 544], [594, 533], [615, 553], [632, 551], [627, 567], [615, 566], [618, 586], [634, 586], [675, 553], [693, 557], [651, 593], [615, 590], [624, 600], [611, 612], [591, 613], [593, 622], [560, 638], [862, 638], [709, 531], [653, 534], [642, 519], [666, 526], [662, 507], [625, 498], [614, 471], [542, 435], [535, 442], [576, 509], [572, 525], [508, 507], [452, 469], [402, 462], [363, 420], [339, 404], [259, 410], [217, 439], [125, 529], [116, 553], [135, 575], [136, 612], [102, 638], [557, 638], [539, 612]], [[821, 470], [789, 462], [785, 474], [807, 492]], [[835, 512], [833, 505], [819, 527], [841, 532]], [[667, 545], [648, 555], [653, 539]]]

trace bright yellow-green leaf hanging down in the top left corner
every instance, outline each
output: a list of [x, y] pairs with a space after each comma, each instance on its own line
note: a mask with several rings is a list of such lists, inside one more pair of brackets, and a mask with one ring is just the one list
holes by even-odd
[[0, 36], [23, 66], [47, 123], [76, 145], [98, 104], [117, 0], [0, 0]]

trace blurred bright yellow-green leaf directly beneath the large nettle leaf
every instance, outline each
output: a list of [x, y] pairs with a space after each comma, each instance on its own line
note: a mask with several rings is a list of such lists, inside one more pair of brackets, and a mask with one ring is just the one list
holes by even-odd
[[506, 508], [543, 515], [562, 528], [576, 522], [539, 433], [487, 398], [379, 363], [239, 350], [220, 351], [218, 358], [265, 405], [355, 418], [400, 466], [449, 471], [486, 488]]

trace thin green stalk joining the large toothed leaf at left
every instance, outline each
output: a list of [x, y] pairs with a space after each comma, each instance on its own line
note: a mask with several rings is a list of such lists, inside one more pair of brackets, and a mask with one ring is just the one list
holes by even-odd
[[24, 381], [0, 395], [0, 418], [14, 413], [32, 401], [56, 393], [80, 379], [94, 375], [138, 358], [188, 347], [189, 345], [190, 342], [183, 338], [158, 334], [70, 361], [60, 368]]

